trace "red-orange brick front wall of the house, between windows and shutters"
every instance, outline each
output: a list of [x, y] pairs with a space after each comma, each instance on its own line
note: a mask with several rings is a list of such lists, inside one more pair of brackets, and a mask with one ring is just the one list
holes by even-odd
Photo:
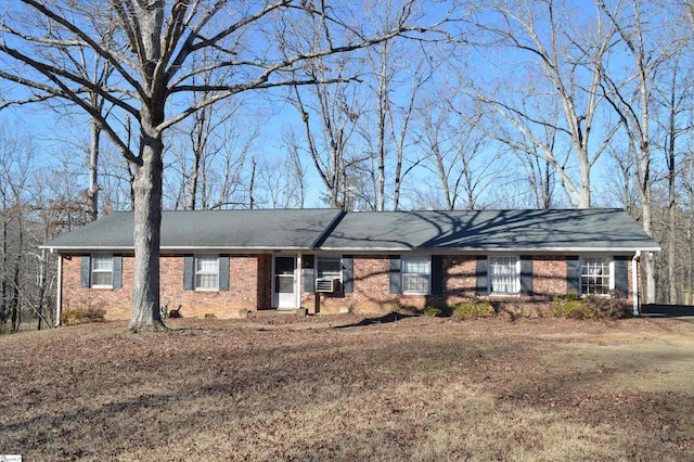
[[[134, 259], [123, 257], [121, 288], [80, 287], [80, 256], [67, 256], [62, 261], [62, 310], [72, 308], [102, 308], [106, 319], [129, 319], [134, 280]], [[160, 265], [160, 300], [169, 309], [181, 306], [184, 317], [233, 318], [241, 309], [261, 310], [272, 307], [272, 255], [231, 256], [229, 291], [184, 291], [183, 257], [163, 256]], [[532, 296], [492, 297], [511, 304], [542, 305], [555, 295], [565, 295], [566, 258], [564, 256], [532, 257]], [[300, 273], [298, 271], [297, 273]], [[628, 266], [631, 287], [631, 265]], [[389, 257], [354, 256], [354, 292], [314, 294], [305, 292], [303, 278], [301, 305], [309, 312], [336, 313], [345, 310], [381, 315], [398, 306], [425, 308], [452, 306], [476, 295], [476, 257], [470, 255], [442, 257], [442, 294], [391, 294]], [[631, 291], [628, 300], [631, 303]], [[490, 298], [490, 297], [485, 297]], [[539, 309], [543, 309], [540, 307]]]

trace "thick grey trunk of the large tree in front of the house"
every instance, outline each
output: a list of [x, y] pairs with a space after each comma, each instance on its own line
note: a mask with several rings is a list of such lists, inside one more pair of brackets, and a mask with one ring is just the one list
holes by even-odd
[[134, 167], [134, 290], [132, 332], [165, 329], [159, 312], [159, 226], [162, 223], [160, 134], [142, 137], [142, 165]]

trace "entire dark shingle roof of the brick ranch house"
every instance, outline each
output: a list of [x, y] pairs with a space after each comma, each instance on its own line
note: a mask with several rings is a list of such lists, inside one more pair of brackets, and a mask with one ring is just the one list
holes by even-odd
[[[55, 252], [131, 249], [133, 215], [118, 213], [48, 242]], [[342, 252], [658, 251], [624, 210], [165, 211], [162, 249]]]

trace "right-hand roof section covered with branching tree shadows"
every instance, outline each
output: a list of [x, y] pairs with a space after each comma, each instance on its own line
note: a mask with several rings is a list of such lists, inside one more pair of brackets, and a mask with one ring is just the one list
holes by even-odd
[[321, 248], [339, 251], [657, 251], [620, 209], [348, 214]]

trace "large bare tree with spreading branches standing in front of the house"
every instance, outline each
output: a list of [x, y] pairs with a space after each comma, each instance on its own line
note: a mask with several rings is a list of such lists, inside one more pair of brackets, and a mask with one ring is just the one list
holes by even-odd
[[[234, 94], [297, 84], [294, 70], [307, 63], [316, 66], [324, 56], [422, 30], [425, 25], [413, 17], [411, 7], [412, 1], [403, 2], [388, 29], [363, 28], [347, 7], [292, 0], [21, 0], [8, 7], [0, 25], [0, 78], [79, 106], [99, 120], [133, 170], [136, 278], [129, 330], [164, 328], [158, 292], [164, 131]], [[94, 29], [113, 24], [99, 21], [111, 12], [118, 28], [105, 42]], [[310, 27], [301, 36], [316, 40], [306, 44], [290, 27], [271, 27], [297, 23]], [[204, 61], [205, 49], [222, 50], [223, 59]], [[73, 64], [73, 55], [81, 51], [110, 63], [114, 80], [106, 86], [85, 80]], [[220, 73], [224, 77], [213, 85], [193, 80], [211, 68], [233, 72]], [[298, 84], [314, 81], [307, 77]], [[138, 124], [136, 149], [89, 104], [91, 92]], [[180, 97], [191, 92], [209, 95], [185, 105]]]

